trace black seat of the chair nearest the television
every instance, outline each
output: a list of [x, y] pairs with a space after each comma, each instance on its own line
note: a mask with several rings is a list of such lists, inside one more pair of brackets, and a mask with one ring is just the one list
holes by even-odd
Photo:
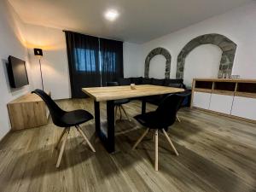
[[82, 109], [64, 113], [61, 117], [61, 121], [66, 124], [65, 126], [67, 127], [80, 125], [90, 119], [93, 119], [92, 114]]

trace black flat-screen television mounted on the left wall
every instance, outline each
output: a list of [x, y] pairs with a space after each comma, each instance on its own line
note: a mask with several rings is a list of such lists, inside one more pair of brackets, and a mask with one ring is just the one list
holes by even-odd
[[26, 73], [26, 62], [11, 55], [9, 55], [8, 61], [7, 69], [10, 86], [12, 88], [19, 88], [29, 84]]

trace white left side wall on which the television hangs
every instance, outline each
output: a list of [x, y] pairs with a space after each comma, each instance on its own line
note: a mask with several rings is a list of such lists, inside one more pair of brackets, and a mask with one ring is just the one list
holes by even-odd
[[30, 65], [27, 62], [27, 49], [22, 34], [23, 27], [20, 18], [15, 15], [9, 3], [0, 1], [0, 139], [10, 130], [7, 103], [32, 90], [32, 84], [20, 89], [11, 89], [6, 71], [9, 55], [25, 60], [29, 82], [32, 83]]

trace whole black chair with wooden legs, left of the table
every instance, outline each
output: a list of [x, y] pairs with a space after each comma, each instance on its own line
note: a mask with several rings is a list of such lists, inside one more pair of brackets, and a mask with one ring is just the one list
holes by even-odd
[[33, 90], [32, 93], [37, 94], [40, 96], [47, 107], [49, 108], [49, 113], [51, 116], [51, 119], [53, 123], [56, 126], [62, 127], [64, 130], [61, 133], [61, 137], [59, 138], [55, 148], [58, 148], [59, 144], [61, 143], [61, 140], [63, 139], [63, 142], [61, 144], [61, 151], [56, 163], [56, 167], [58, 168], [61, 164], [61, 158], [62, 154], [65, 148], [65, 144], [67, 142], [67, 137], [69, 135], [69, 131], [71, 127], [75, 127], [77, 131], [81, 134], [82, 137], [84, 137], [84, 140], [86, 143], [88, 143], [90, 149], [93, 152], [96, 152], [95, 148], [92, 147], [89, 139], [84, 135], [84, 132], [82, 131], [80, 125], [84, 122], [89, 121], [90, 119], [93, 119], [93, 116], [82, 109], [74, 110], [74, 111], [63, 111], [59, 106], [50, 98], [49, 95], [47, 95], [44, 90]]

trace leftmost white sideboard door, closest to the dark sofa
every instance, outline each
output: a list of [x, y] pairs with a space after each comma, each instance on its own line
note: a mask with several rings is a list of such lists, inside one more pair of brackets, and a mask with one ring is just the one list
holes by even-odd
[[194, 92], [193, 97], [193, 106], [196, 108], [205, 108], [209, 109], [210, 101], [211, 101], [211, 93], [203, 93], [203, 92]]

